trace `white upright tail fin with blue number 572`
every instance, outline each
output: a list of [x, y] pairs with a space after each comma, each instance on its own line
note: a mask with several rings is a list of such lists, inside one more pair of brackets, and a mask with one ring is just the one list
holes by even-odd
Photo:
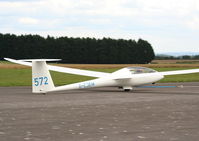
[[32, 92], [46, 93], [55, 88], [46, 60], [32, 61]]

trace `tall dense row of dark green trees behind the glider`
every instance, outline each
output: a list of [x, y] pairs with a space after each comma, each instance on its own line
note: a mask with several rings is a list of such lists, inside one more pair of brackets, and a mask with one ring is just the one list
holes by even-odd
[[60, 58], [62, 63], [146, 64], [155, 55], [146, 40], [0, 34], [0, 59]]

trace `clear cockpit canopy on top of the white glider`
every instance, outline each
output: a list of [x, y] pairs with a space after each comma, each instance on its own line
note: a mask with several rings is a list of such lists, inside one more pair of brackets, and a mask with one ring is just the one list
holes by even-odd
[[131, 72], [131, 74], [140, 74], [140, 73], [154, 73], [157, 72], [150, 68], [145, 67], [127, 67], [127, 69]]

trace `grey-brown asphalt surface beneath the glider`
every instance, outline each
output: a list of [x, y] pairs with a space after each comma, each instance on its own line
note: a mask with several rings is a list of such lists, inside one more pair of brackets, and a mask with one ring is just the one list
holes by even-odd
[[198, 141], [199, 83], [164, 85], [184, 87], [0, 87], [0, 141]]

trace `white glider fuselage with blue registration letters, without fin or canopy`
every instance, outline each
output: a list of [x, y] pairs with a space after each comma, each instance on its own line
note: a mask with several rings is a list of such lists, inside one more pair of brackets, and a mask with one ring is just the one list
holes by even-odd
[[162, 78], [164, 78], [164, 76], [159, 74], [158, 72], [130, 74], [127, 68], [123, 68], [105, 77], [55, 87], [51, 91], [63, 91], [107, 86], [122, 87], [123, 89], [132, 89], [134, 86], [154, 83]]

